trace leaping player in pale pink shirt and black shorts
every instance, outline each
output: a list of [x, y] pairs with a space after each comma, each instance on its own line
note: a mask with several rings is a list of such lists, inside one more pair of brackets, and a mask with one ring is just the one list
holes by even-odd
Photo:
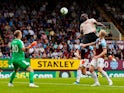
[[[97, 22], [94, 18], [89, 19], [87, 14], [81, 14], [81, 18], [84, 20], [80, 25], [80, 32], [83, 32], [83, 44], [91, 43], [96, 41], [98, 38], [96, 35], [96, 25], [105, 27], [100, 22]], [[82, 58], [84, 58], [85, 51], [82, 50]]]

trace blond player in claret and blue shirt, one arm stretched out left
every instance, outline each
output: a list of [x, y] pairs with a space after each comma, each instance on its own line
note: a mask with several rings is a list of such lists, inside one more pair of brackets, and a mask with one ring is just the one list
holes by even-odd
[[96, 49], [95, 49], [96, 53], [91, 61], [91, 66], [89, 69], [92, 74], [92, 77], [94, 78], [94, 81], [95, 81], [95, 83], [92, 86], [100, 86], [96, 72], [94, 71], [95, 69], [97, 69], [100, 73], [102, 73], [107, 78], [110, 86], [113, 84], [112, 80], [109, 78], [107, 73], [103, 70], [104, 56], [107, 53], [106, 41], [104, 39], [105, 36], [106, 36], [106, 32], [104, 30], [101, 30], [99, 32], [99, 38], [95, 42], [82, 45], [83, 47], [91, 46], [93, 44], [96, 45]]

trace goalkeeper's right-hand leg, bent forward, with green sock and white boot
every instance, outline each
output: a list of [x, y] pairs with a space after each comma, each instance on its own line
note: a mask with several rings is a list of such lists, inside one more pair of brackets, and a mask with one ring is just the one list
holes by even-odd
[[22, 60], [19, 64], [20, 68], [25, 69], [29, 72], [29, 87], [39, 87], [34, 84], [34, 70], [31, 68], [29, 62], [26, 62], [25, 60]]

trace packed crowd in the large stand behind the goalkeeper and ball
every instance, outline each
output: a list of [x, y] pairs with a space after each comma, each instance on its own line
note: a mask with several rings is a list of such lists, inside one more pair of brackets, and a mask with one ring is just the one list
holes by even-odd
[[[0, 3], [0, 58], [11, 58], [9, 46], [14, 38], [13, 32], [17, 29], [23, 33], [25, 46], [35, 40], [38, 42], [36, 47], [26, 51], [27, 58], [73, 58], [82, 42], [82, 37], [79, 38], [79, 35], [82, 36], [79, 31], [80, 14], [88, 13], [97, 21], [105, 21], [92, 0], [82, 1], [83, 5], [73, 0], [55, 0], [54, 3], [40, 0], [10, 1]], [[60, 13], [63, 6], [69, 9], [67, 15]], [[113, 51], [108, 49], [109, 54], [115, 55]], [[121, 53], [124, 55], [124, 48]]]

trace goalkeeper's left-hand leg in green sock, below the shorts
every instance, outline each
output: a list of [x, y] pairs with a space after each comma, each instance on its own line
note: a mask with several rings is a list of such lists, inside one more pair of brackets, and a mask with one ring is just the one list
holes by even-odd
[[9, 87], [13, 87], [13, 80], [16, 76], [16, 73], [18, 72], [19, 68], [18, 68], [18, 65], [17, 64], [13, 64], [14, 65], [14, 71], [11, 73], [11, 76], [10, 76], [10, 81], [9, 81], [9, 84], [8, 86]]

